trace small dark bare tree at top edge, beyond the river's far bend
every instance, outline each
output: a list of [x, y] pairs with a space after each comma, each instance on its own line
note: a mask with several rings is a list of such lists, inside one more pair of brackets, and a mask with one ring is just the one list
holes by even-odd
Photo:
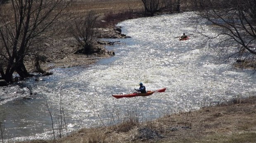
[[142, 2], [145, 7], [145, 14], [150, 14], [150, 16], [171, 7], [171, 2], [166, 2], [166, 0], [142, 0]]

